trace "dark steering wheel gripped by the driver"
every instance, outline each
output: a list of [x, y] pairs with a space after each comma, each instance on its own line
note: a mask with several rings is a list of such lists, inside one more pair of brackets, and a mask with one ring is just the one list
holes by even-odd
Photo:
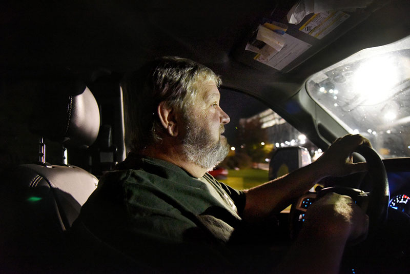
[[[296, 204], [292, 204], [290, 214], [291, 236], [294, 238], [302, 227], [304, 214], [307, 208], [316, 200], [329, 192], [350, 196], [369, 217], [369, 234], [387, 219], [387, 208], [390, 198], [386, 169], [375, 150], [368, 146], [358, 146], [355, 150], [361, 154], [367, 162], [368, 171], [363, 180], [370, 180], [372, 187], [370, 192], [360, 189], [333, 186], [321, 189], [318, 193], [306, 193], [299, 198]], [[357, 183], [357, 186], [361, 182]]]

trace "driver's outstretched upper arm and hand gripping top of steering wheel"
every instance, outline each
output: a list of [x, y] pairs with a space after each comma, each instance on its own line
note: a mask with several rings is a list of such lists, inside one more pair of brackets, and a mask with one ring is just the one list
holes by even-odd
[[352, 161], [354, 149], [361, 144], [370, 146], [370, 142], [360, 135], [346, 135], [336, 140], [312, 164], [246, 190], [243, 218], [256, 221], [273, 212], [279, 212], [325, 177], [365, 171], [365, 163], [353, 164]]

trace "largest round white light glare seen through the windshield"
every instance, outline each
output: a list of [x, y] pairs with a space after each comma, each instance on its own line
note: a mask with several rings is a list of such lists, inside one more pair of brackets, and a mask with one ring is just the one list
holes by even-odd
[[387, 99], [398, 81], [399, 71], [388, 56], [374, 57], [364, 62], [353, 76], [353, 88], [368, 104]]

